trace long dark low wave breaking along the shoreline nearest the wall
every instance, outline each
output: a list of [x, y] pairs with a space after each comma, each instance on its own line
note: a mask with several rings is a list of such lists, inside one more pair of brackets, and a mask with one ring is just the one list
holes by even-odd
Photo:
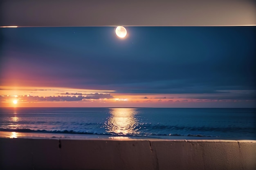
[[184, 136], [184, 137], [218, 137], [218, 136], [206, 136], [200, 134], [156, 134], [156, 133], [148, 133], [148, 134], [123, 134], [123, 133], [97, 133], [97, 132], [81, 132], [74, 130], [33, 130], [29, 128], [0, 128], [0, 131], [4, 132], [33, 132], [33, 133], [57, 133], [57, 134], [77, 134], [77, 135], [111, 135], [111, 136], [126, 136], [126, 137], [159, 137], [159, 136]]

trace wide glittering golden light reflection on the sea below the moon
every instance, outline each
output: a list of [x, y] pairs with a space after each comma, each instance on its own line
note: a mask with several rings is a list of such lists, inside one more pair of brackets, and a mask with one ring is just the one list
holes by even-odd
[[110, 117], [105, 123], [106, 132], [118, 135], [134, 135], [138, 132], [138, 119], [135, 108], [111, 108]]

